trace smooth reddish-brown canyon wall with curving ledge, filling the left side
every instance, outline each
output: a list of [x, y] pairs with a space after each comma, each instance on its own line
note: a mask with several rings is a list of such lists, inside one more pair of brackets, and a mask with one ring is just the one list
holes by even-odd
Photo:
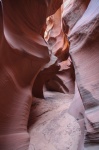
[[41, 35], [47, 15], [55, 13], [61, 2], [43, 0], [41, 3], [37, 0], [26, 1], [24, 5], [23, 0], [2, 1], [4, 35], [0, 44], [1, 150], [29, 148], [27, 126], [32, 104], [32, 86], [40, 69], [49, 61], [48, 48]]

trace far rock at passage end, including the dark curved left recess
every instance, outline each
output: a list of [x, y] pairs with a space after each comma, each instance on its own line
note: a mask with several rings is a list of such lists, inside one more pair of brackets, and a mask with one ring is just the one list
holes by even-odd
[[74, 70], [68, 59], [69, 42], [62, 31], [61, 19], [61, 8], [47, 18], [44, 37], [53, 57], [34, 82], [33, 95], [39, 98], [44, 98], [44, 84], [47, 90], [74, 93]]

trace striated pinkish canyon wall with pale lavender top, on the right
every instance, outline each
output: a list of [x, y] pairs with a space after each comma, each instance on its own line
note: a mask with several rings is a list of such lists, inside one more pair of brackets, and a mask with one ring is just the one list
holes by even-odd
[[[99, 92], [98, 92], [98, 47], [99, 47], [99, 1], [91, 0], [82, 17], [75, 24], [68, 21], [68, 12], [64, 16], [66, 26], [70, 27], [70, 55], [75, 69], [76, 82], [85, 108], [86, 143], [99, 141]], [[80, 10], [81, 11], [81, 10]], [[75, 14], [72, 14], [75, 16]], [[64, 19], [63, 18], [63, 19]], [[78, 17], [79, 18], [79, 17]], [[74, 25], [75, 24], [75, 25]], [[73, 27], [72, 27], [73, 25]], [[72, 30], [71, 30], [72, 28]], [[77, 93], [75, 93], [75, 96]], [[83, 107], [82, 105], [82, 107]], [[72, 107], [72, 109], [74, 109]], [[76, 116], [76, 115], [75, 115]], [[91, 145], [86, 149], [99, 149]]]

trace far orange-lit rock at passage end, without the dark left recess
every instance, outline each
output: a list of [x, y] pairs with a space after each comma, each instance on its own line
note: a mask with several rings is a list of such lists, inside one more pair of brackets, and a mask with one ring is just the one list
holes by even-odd
[[74, 93], [74, 70], [68, 53], [69, 41], [62, 31], [61, 12], [62, 8], [50, 17], [51, 21], [47, 22], [47, 42], [49, 49], [57, 57], [60, 70], [46, 83], [46, 87], [62, 93]]

